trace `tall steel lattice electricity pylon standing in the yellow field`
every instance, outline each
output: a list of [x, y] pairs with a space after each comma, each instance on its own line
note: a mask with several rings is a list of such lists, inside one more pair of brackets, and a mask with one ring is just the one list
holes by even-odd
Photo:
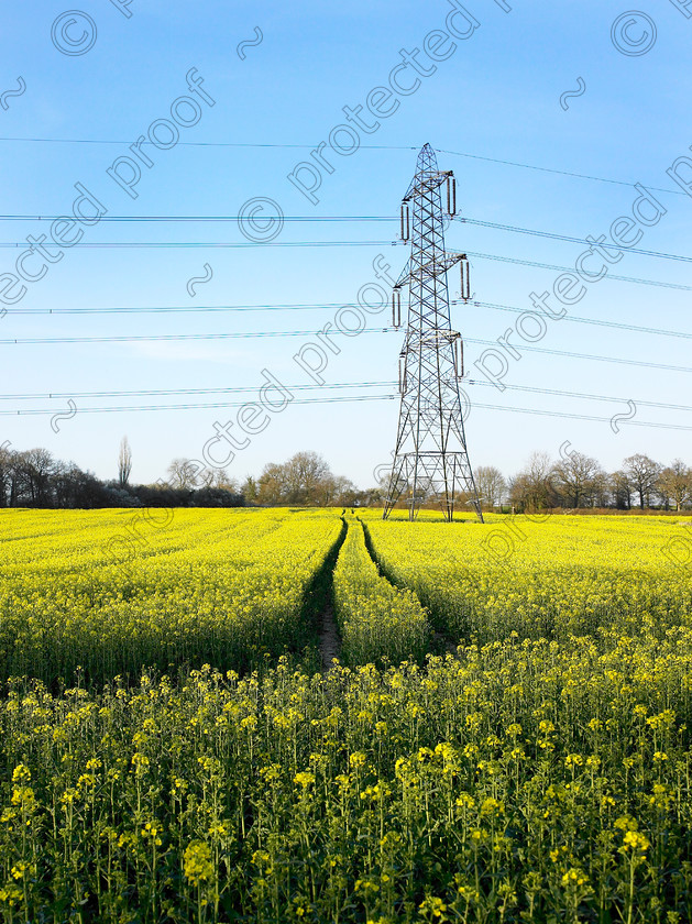
[[447, 272], [457, 263], [461, 266], [461, 298], [470, 298], [466, 255], [444, 250], [444, 218], [455, 210], [453, 174], [438, 170], [435, 152], [426, 144], [402, 201], [402, 238], [410, 239], [410, 260], [394, 286], [395, 327], [400, 323], [400, 290], [405, 286], [409, 305], [399, 358], [399, 425], [384, 519], [404, 494], [409, 519], [416, 518], [421, 502], [435, 499], [441, 504], [444, 519], [451, 521], [454, 504], [464, 495], [483, 521], [461, 411], [463, 346], [461, 336], [451, 329], [449, 311]]

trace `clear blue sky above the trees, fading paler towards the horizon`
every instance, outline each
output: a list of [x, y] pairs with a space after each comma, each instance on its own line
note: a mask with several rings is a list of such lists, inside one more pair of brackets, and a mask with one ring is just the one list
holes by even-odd
[[[129, 7], [114, 0], [79, 3], [76, 13], [45, 0], [13, 4], [4, 12], [0, 212], [25, 218], [1, 221], [0, 242], [21, 242], [22, 246], [0, 248], [0, 276], [17, 274], [15, 261], [29, 246], [28, 235], [35, 241], [50, 234], [52, 222], [36, 217], [70, 216], [78, 196], [75, 184], [81, 184], [107, 209], [106, 218], [237, 216], [248, 200], [267, 197], [288, 218], [388, 220], [287, 220], [271, 245], [254, 248], [210, 245], [246, 244], [235, 221], [102, 220], [72, 230], [65, 224], [65, 240], [83, 232], [79, 244], [64, 249], [59, 260], [53, 246], [48, 251], [53, 263], [36, 253], [28, 258], [23, 264], [28, 273], [36, 275], [44, 265], [46, 272], [43, 278], [28, 282], [25, 294], [14, 304], [8, 299], [17, 297], [19, 285], [11, 287], [9, 277], [6, 283], [0, 278], [0, 288], [8, 286], [2, 289], [7, 314], [0, 319], [0, 391], [12, 396], [0, 400], [0, 411], [11, 411], [0, 417], [0, 442], [9, 440], [18, 449], [45, 446], [56, 457], [109, 477], [116, 474], [120, 439], [128, 435], [133, 480], [152, 482], [165, 475], [176, 457], [199, 459], [215, 437], [215, 422], [233, 421], [238, 409], [92, 413], [92, 408], [252, 402], [266, 369], [283, 385], [296, 386], [294, 402], [273, 414], [262, 432], [248, 438], [249, 444], [235, 452], [229, 465], [230, 474], [244, 479], [259, 473], [266, 462], [314, 449], [336, 472], [362, 486], [371, 484], [373, 469], [387, 461], [393, 448], [397, 400], [331, 399], [393, 395], [403, 332], [377, 332], [388, 326], [385, 310], [369, 316], [362, 333], [334, 339], [340, 352], [329, 353], [321, 377], [329, 386], [356, 383], [358, 387], [310, 391], [306, 386], [315, 383], [294, 356], [315, 341], [315, 333], [326, 323], [334, 323], [339, 306], [353, 302], [361, 286], [375, 282], [373, 261], [380, 255], [381, 265], [389, 265], [391, 273], [398, 275], [407, 253], [397, 243], [396, 217], [417, 151], [426, 142], [440, 152], [440, 168], [454, 170], [462, 217], [578, 240], [597, 239], [609, 233], [615, 219], [631, 216], [639, 197], [634, 184], [640, 184], [661, 210], [656, 224], [635, 227], [633, 233], [642, 232], [637, 248], [659, 254], [690, 253], [692, 200], [666, 173], [677, 158], [692, 156], [686, 76], [692, 73], [692, 16], [685, 15], [692, 4], [685, 11], [682, 0], [678, 4], [642, 2], [634, 12], [615, 0], [530, 7], [513, 0], [469, 0], [463, 6], [450, 0], [293, 7], [210, 0], [196, 4], [132, 0]], [[513, 9], [503, 9], [507, 6]], [[625, 13], [631, 15], [624, 18]], [[468, 16], [473, 18], [473, 28]], [[91, 23], [96, 34], [89, 35]], [[422, 51], [432, 31], [451, 29], [462, 34], [466, 28], [468, 37], [452, 35], [447, 45], [440, 45], [441, 53], [449, 53], [447, 59], [432, 62]], [[262, 34], [261, 42], [255, 30]], [[242, 42], [253, 44], [239, 54]], [[421, 69], [435, 67], [435, 73], [419, 75], [411, 66], [398, 72], [397, 79], [406, 88], [413, 88], [416, 79], [420, 86], [383, 103], [383, 109], [398, 106], [378, 120], [378, 128], [373, 129], [371, 121], [370, 131], [359, 132], [360, 145], [351, 154], [330, 151], [332, 129], [354, 124], [348, 122], [343, 107], [350, 111], [365, 107], [369, 94], [386, 87], [392, 69], [403, 63], [402, 50], [413, 54], [415, 48], [421, 50], [416, 58]], [[199, 78], [204, 82], [195, 84]], [[562, 95], [580, 90], [579, 96], [563, 98], [564, 109]], [[180, 103], [180, 121], [196, 124], [179, 125], [179, 139], [169, 150], [152, 144], [141, 147], [152, 164], [146, 166], [129, 145], [146, 135], [156, 120], [171, 122], [171, 107], [180, 97], [191, 98], [197, 106]], [[157, 131], [164, 145], [169, 138], [164, 123], [154, 128]], [[320, 142], [327, 143], [323, 154], [333, 172], [320, 169], [315, 204], [287, 177]], [[337, 143], [345, 145], [347, 135], [338, 135]], [[125, 157], [141, 172], [136, 184], [132, 167], [122, 160], [118, 163]], [[112, 172], [124, 177], [124, 185], [132, 184], [136, 198], [114, 182]], [[307, 176], [304, 170], [303, 177]], [[193, 242], [196, 246], [80, 245], [116, 242]], [[349, 245], [304, 245], [317, 242]], [[292, 243], [300, 246], [287, 246]], [[503, 261], [560, 267], [573, 267], [585, 249], [459, 221], [451, 224], [447, 245]], [[553, 352], [523, 349], [528, 341], [515, 330], [509, 340], [518, 344], [520, 359], [505, 353], [504, 373], [504, 384], [514, 387], [499, 392], [474, 363], [484, 350], [502, 348], [476, 341], [496, 341], [519, 315], [484, 306], [529, 309], [529, 294], [551, 290], [561, 275], [503, 261], [472, 257], [472, 290], [482, 305], [452, 308], [453, 327], [466, 341], [471, 381], [463, 387], [471, 399], [466, 437], [472, 463], [495, 464], [512, 473], [532, 450], [554, 457], [565, 441], [597, 457], [608, 469], [637, 451], [663, 463], [674, 457], [692, 462], [692, 431], [674, 429], [692, 426], [684, 409], [690, 404], [691, 373], [658, 367], [690, 367], [689, 339], [573, 320], [689, 333], [690, 290], [684, 287], [692, 286], [690, 263], [625, 252], [617, 265], [608, 267], [608, 276], [663, 285], [608, 277], [590, 284], [579, 304], [570, 306], [564, 318], [547, 321], [545, 336], [532, 344]], [[595, 267], [595, 262], [590, 266]], [[197, 284], [190, 296], [188, 280], [209, 273], [211, 278]], [[451, 287], [458, 289], [455, 279]], [[297, 305], [322, 307], [275, 307]], [[272, 306], [272, 310], [201, 310], [221, 306]], [[67, 308], [163, 307], [196, 310], [65, 314]], [[276, 331], [306, 333], [7, 342]], [[375, 384], [362, 387], [362, 383]], [[224, 388], [246, 391], [85, 396]], [[31, 395], [58, 397], [25, 397]], [[298, 403], [307, 398], [317, 400]], [[634, 413], [629, 402], [634, 402]], [[74, 408], [76, 414], [70, 414]], [[48, 413], [24, 413], [30, 409]], [[624, 422], [615, 432], [609, 422], [614, 415], [667, 426]], [[582, 416], [600, 419], [579, 419]], [[233, 426], [240, 432], [238, 424]]]

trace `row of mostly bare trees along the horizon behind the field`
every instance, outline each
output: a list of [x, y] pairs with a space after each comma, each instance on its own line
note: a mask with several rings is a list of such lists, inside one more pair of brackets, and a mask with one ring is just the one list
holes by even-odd
[[[692, 507], [692, 468], [680, 459], [662, 465], [636, 453], [608, 473], [592, 457], [565, 447], [557, 461], [545, 452], [532, 453], [509, 477], [494, 465], [479, 466], [475, 481], [483, 508]], [[385, 474], [378, 484], [361, 491], [348, 477], [334, 475], [325, 459], [310, 451], [297, 452], [283, 463], [271, 462], [242, 484], [222, 469], [200, 471], [198, 462], [186, 458], [174, 459], [165, 479], [154, 484], [131, 484], [131, 472], [127, 438], [120, 444], [117, 476], [109, 481], [55, 459], [46, 449], [20, 451], [3, 443], [0, 507], [376, 506], [384, 502], [388, 485]], [[435, 505], [436, 498], [426, 501]]]

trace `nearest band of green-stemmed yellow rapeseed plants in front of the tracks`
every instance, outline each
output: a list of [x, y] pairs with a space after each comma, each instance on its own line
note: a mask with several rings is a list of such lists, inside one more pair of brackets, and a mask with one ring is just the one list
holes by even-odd
[[[3, 921], [689, 921], [692, 632], [0, 707]], [[675, 916], [678, 915], [678, 916]]]

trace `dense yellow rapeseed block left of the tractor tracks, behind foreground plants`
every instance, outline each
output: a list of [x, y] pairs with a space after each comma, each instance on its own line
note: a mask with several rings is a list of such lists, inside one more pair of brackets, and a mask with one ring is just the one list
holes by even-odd
[[308, 644], [337, 517], [168, 514], [0, 512], [1, 675], [242, 670]]

